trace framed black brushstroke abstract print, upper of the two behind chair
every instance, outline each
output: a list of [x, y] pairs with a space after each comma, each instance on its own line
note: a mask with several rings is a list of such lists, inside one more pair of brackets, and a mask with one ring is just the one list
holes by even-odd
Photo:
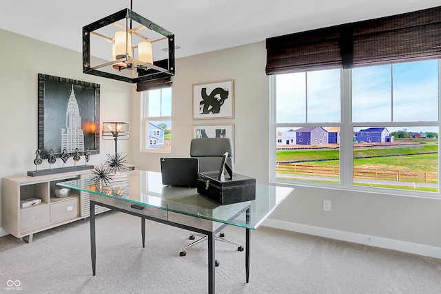
[[234, 80], [194, 84], [193, 118], [234, 118]]

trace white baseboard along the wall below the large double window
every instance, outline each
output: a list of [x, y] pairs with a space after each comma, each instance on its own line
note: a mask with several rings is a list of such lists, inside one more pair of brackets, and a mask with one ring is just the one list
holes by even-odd
[[305, 233], [308, 235], [317, 235], [329, 239], [340, 241], [353, 242], [358, 244], [365, 244], [384, 249], [393, 249], [406, 253], [429, 256], [431, 258], [441, 258], [441, 248], [436, 246], [429, 246], [400, 240], [393, 240], [388, 238], [380, 238], [371, 235], [362, 235], [358, 233], [350, 233], [345, 231], [337, 231], [333, 229], [326, 229], [320, 227], [308, 226], [306, 224], [296, 224], [293, 222], [284, 222], [282, 220], [267, 219], [263, 222], [266, 227], [276, 229], [283, 229], [287, 231], [295, 231], [298, 233]]

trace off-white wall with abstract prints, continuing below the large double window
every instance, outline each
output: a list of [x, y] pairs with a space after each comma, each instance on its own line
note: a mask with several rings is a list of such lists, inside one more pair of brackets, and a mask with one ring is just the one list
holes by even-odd
[[[234, 123], [235, 171], [268, 182], [265, 59], [265, 43], [260, 42], [176, 61], [171, 156], [188, 156], [192, 124]], [[192, 84], [229, 78], [234, 79], [234, 119], [193, 120]], [[139, 103], [139, 94], [135, 101]], [[134, 104], [132, 117], [132, 125], [136, 125], [139, 104]], [[140, 153], [139, 142], [132, 145], [132, 158], [139, 168], [158, 170], [160, 156]], [[331, 200], [331, 212], [322, 210], [324, 199]], [[440, 199], [298, 186], [265, 224], [441, 258]]]

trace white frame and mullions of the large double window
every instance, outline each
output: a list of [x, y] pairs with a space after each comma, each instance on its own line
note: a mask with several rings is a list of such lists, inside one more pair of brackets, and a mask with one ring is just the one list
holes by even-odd
[[[409, 61], [413, 62], [413, 61]], [[316, 70], [316, 69], [314, 69]], [[327, 70], [323, 68], [323, 70]], [[371, 122], [353, 123], [352, 97], [351, 97], [351, 69], [340, 69], [341, 97], [340, 97], [340, 123], [276, 123], [276, 75], [269, 76], [270, 99], [270, 134], [269, 134], [269, 183], [302, 187], [322, 187], [331, 189], [344, 189], [349, 191], [376, 192], [398, 196], [418, 196], [424, 198], [441, 197], [441, 136], [438, 136], [438, 192], [411, 191], [382, 187], [367, 187], [353, 185], [353, 128], [354, 127], [438, 127], [441, 134], [441, 59], [438, 59], [438, 122]], [[340, 127], [340, 182], [329, 184], [326, 182], [302, 181], [295, 179], [276, 178], [276, 137], [278, 127]]]

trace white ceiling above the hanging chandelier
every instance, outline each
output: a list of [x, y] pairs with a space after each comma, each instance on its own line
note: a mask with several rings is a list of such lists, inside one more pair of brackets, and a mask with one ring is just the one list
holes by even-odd
[[[175, 34], [176, 58], [435, 6], [440, 0], [133, 0], [134, 12]], [[124, 8], [130, 0], [2, 0], [0, 28], [81, 52], [81, 28]]]

